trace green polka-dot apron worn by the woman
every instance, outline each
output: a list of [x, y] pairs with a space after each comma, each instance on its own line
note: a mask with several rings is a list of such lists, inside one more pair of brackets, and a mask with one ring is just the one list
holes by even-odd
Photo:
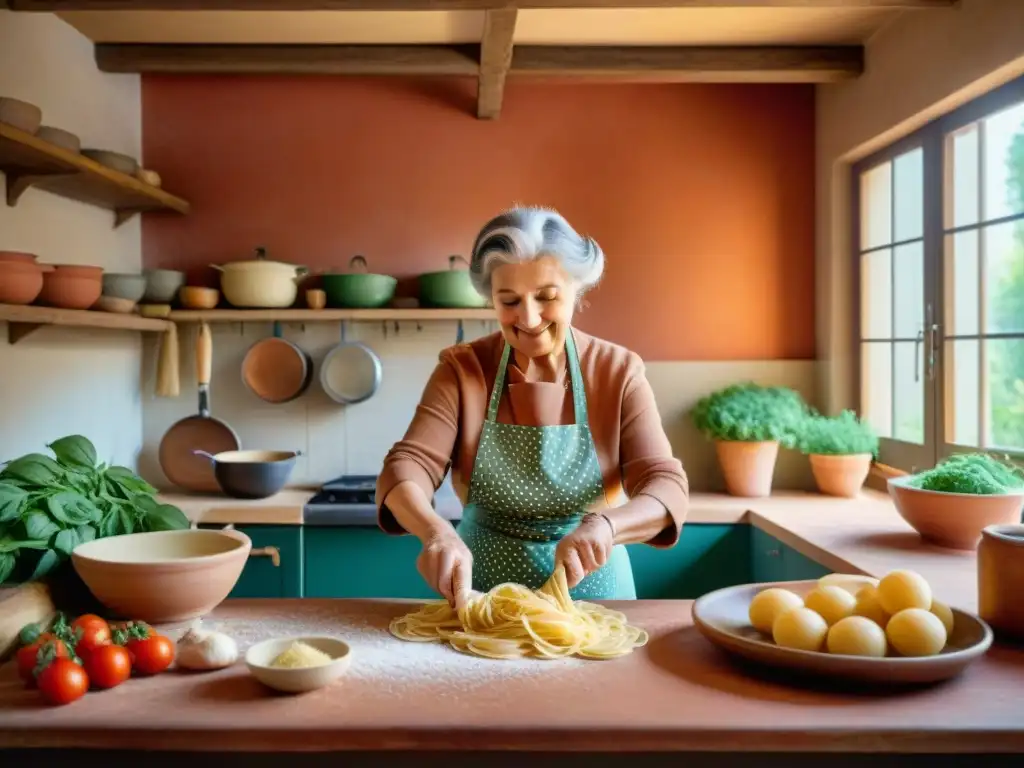
[[[505, 582], [530, 589], [543, 586], [554, 570], [558, 541], [604, 493], [571, 332], [565, 337], [565, 353], [574, 424], [524, 427], [498, 422], [510, 351], [506, 343], [459, 523], [459, 536], [473, 554], [473, 589], [480, 592]], [[626, 548], [613, 547], [604, 566], [569, 592], [574, 600], [635, 600]]]

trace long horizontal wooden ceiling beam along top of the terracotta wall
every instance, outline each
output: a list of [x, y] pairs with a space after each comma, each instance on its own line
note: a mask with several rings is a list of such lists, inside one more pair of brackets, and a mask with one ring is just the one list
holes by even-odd
[[[501, 27], [508, 35], [508, 19]], [[497, 33], [496, 33], [497, 35]], [[96, 63], [110, 73], [246, 75], [470, 76], [482, 111], [501, 105], [497, 65], [481, 68], [476, 46], [446, 45], [151, 45], [99, 43]], [[493, 67], [485, 75], [483, 69]], [[511, 51], [506, 77], [600, 78], [634, 82], [831, 83], [863, 72], [860, 46], [537, 46]], [[497, 99], [497, 100], [496, 100]], [[497, 112], [495, 112], [497, 115]], [[481, 116], [481, 117], [482, 117]]]

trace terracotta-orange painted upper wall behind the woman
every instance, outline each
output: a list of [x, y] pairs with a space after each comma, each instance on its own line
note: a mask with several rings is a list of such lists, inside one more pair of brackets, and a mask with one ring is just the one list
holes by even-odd
[[[272, 258], [410, 278], [515, 202], [608, 257], [579, 325], [648, 360], [814, 357], [811, 86], [145, 77], [146, 165], [187, 198], [147, 217], [147, 266]], [[403, 287], [408, 289], [406, 281]]]

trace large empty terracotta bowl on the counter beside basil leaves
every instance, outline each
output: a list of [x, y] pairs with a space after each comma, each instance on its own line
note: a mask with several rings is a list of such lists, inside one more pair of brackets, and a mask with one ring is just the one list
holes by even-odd
[[72, 553], [99, 602], [151, 624], [209, 613], [234, 589], [252, 541], [238, 530], [160, 530], [96, 539]]

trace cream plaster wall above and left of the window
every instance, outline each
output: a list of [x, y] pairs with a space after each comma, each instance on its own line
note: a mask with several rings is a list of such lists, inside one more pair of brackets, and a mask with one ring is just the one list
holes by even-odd
[[860, 78], [817, 88], [819, 391], [855, 408], [850, 165], [1024, 73], [1024, 0], [907, 11], [866, 46]]

